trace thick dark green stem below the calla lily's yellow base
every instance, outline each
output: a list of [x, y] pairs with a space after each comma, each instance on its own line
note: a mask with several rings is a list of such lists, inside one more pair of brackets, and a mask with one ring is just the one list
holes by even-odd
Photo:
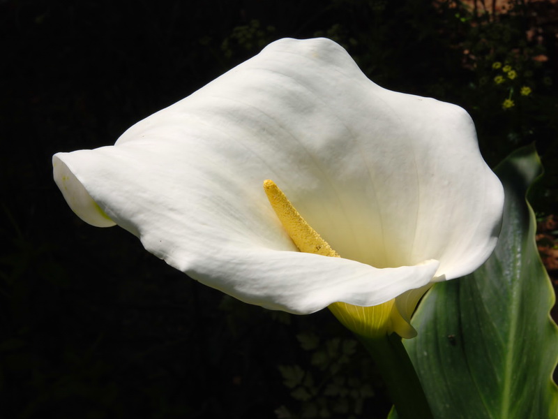
[[396, 333], [382, 337], [356, 336], [374, 358], [398, 418], [432, 419], [421, 382], [401, 338]]

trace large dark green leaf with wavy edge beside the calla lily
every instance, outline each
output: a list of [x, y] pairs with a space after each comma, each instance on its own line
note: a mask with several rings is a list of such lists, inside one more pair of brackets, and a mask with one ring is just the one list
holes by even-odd
[[541, 164], [525, 147], [495, 171], [506, 194], [495, 252], [473, 274], [432, 288], [413, 318], [418, 337], [405, 347], [436, 419], [555, 419], [555, 297], [525, 199]]

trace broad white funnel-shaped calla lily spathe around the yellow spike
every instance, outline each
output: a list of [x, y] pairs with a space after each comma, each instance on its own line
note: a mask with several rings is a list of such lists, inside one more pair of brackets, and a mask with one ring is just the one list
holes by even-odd
[[[429, 286], [490, 256], [504, 201], [465, 110], [379, 87], [324, 38], [271, 43], [53, 166], [84, 221], [125, 228], [203, 284], [294, 314], [384, 307], [405, 337]], [[299, 251], [266, 179], [340, 257]]]

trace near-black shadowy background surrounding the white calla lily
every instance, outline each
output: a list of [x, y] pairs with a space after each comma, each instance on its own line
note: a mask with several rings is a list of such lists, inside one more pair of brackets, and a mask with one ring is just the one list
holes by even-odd
[[327, 36], [383, 87], [462, 105], [491, 166], [536, 142], [543, 220], [558, 214], [557, 5], [500, 6], [0, 0], [0, 417], [385, 417], [374, 365], [327, 311], [242, 304], [82, 223], [50, 159], [111, 145], [271, 41]]

